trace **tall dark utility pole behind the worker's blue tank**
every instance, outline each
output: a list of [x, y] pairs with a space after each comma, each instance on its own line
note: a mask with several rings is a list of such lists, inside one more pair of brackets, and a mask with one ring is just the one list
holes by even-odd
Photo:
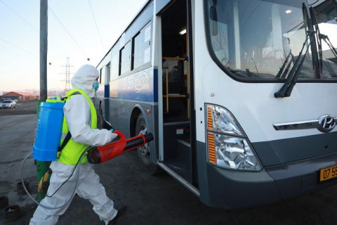
[[[48, 0], [40, 0], [40, 100], [37, 102], [37, 114], [39, 115], [40, 103], [47, 99], [47, 49], [48, 49]], [[36, 160], [37, 181], [40, 181], [49, 168], [51, 162]], [[46, 196], [46, 192], [38, 192], [40, 202]]]

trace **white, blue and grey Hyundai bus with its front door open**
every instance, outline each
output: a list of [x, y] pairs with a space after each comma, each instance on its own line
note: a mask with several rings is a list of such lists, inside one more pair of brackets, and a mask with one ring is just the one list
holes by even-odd
[[[121, 20], [123, 18], [120, 18]], [[98, 63], [100, 122], [210, 207], [337, 184], [336, 0], [149, 0]]]

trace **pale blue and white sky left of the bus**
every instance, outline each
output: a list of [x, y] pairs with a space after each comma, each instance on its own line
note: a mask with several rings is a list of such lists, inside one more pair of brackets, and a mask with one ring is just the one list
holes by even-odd
[[[67, 59], [70, 79], [97, 66], [146, 1], [48, 0], [47, 89], [65, 89]], [[39, 25], [40, 0], [0, 0], [0, 94], [40, 89]]]

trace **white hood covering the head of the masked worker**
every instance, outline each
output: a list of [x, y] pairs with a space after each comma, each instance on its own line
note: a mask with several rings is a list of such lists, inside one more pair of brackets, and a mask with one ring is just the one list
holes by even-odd
[[92, 98], [95, 95], [93, 82], [98, 76], [98, 70], [93, 65], [82, 65], [72, 77], [72, 88], [81, 89], [89, 98]]

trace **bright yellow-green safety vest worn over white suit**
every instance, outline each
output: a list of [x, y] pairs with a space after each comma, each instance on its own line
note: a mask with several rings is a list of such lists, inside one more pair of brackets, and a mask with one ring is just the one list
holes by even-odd
[[[66, 101], [72, 98], [76, 92], [79, 92], [82, 96], [86, 98], [90, 105], [90, 113], [91, 113], [91, 129], [97, 128], [97, 115], [95, 107], [93, 106], [93, 102], [91, 99], [86, 95], [86, 93], [80, 89], [72, 89], [70, 90], [66, 95]], [[89, 124], [88, 124], [89, 125]], [[67, 120], [65, 116], [63, 116], [63, 124], [62, 124], [62, 136], [61, 136], [61, 143], [65, 139], [65, 136], [67, 136], [67, 133], [69, 131]], [[79, 158], [81, 158], [82, 153], [88, 148], [89, 146], [83, 144], [83, 143], [77, 143], [73, 139], [70, 139], [68, 143], [65, 145], [65, 147], [62, 149], [60, 158], [58, 158], [59, 162], [62, 162], [66, 165], [76, 165], [79, 161]], [[88, 159], [84, 157], [81, 161], [81, 163], [88, 162]]]

